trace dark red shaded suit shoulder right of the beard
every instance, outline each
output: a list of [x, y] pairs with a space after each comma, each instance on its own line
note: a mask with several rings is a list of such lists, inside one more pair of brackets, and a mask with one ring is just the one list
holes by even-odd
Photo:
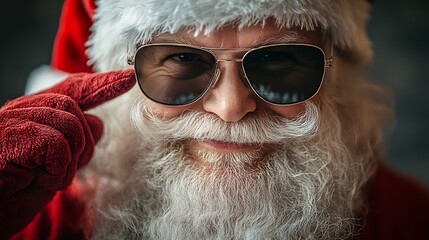
[[368, 190], [361, 240], [429, 239], [429, 192], [425, 186], [380, 166]]

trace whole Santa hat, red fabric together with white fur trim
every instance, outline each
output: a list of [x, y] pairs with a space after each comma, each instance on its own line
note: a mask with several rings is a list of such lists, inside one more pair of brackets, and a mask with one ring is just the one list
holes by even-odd
[[357, 64], [372, 56], [366, 0], [66, 0], [52, 65], [66, 72], [128, 68], [136, 44], [183, 27], [209, 34], [274, 18], [279, 26], [322, 29]]

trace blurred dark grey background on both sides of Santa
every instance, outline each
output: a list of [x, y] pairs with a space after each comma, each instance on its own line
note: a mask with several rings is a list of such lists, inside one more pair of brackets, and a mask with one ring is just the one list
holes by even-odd
[[[388, 163], [429, 186], [429, 1], [375, 0], [368, 29], [375, 58], [368, 75], [390, 86], [396, 125]], [[23, 94], [36, 67], [49, 64], [62, 1], [2, 1], [0, 105]]]

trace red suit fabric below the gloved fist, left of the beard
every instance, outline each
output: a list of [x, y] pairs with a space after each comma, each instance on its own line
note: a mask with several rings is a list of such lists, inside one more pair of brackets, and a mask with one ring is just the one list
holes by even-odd
[[73, 185], [67, 191], [57, 192], [54, 199], [12, 240], [80, 240], [85, 229], [90, 229], [85, 204]]

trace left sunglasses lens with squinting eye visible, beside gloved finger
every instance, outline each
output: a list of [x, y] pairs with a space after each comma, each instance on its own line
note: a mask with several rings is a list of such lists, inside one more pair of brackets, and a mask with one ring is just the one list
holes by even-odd
[[191, 47], [149, 45], [136, 53], [135, 70], [143, 93], [168, 105], [191, 103], [204, 94], [215, 74], [215, 58]]

